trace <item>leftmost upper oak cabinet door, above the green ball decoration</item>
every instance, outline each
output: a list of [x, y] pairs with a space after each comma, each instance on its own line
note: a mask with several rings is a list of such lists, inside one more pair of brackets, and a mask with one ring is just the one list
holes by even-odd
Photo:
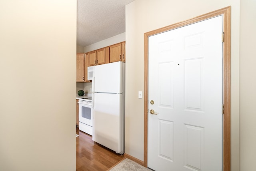
[[84, 82], [84, 54], [76, 54], [76, 82]]

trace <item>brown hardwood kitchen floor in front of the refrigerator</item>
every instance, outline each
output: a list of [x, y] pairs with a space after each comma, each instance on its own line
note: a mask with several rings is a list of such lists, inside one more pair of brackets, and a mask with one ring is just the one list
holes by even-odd
[[92, 136], [76, 128], [76, 171], [106, 171], [124, 155], [92, 141]]

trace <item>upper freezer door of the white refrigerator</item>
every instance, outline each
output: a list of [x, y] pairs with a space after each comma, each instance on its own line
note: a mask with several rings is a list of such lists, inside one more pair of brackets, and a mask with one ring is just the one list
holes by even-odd
[[94, 66], [94, 92], [123, 92], [123, 62]]

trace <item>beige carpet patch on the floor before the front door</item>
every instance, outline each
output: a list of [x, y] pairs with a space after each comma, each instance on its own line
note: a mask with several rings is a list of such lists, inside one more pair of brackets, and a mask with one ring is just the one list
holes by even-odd
[[135, 161], [130, 159], [124, 159], [114, 167], [110, 168], [108, 171], [152, 171]]

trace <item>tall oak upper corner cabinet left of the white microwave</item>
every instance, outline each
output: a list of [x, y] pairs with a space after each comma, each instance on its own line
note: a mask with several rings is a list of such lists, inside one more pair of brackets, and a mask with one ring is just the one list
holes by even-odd
[[87, 67], [89, 65], [89, 56], [84, 53], [76, 54], [76, 82], [90, 82], [87, 80]]

